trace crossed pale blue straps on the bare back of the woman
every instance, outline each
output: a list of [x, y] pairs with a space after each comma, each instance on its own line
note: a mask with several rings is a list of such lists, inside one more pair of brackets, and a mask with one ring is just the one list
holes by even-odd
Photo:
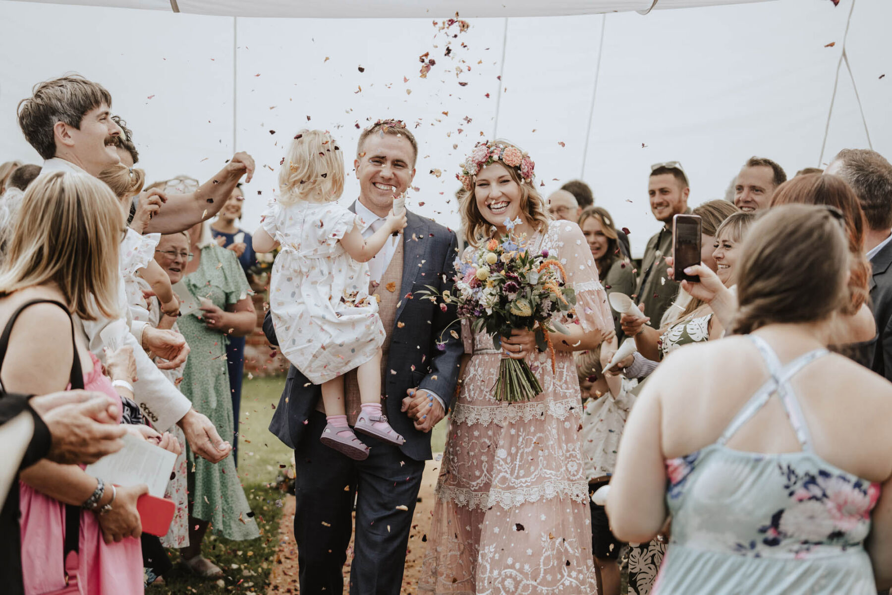
[[753, 342], [756, 349], [759, 350], [771, 377], [761, 388], [759, 388], [758, 391], [756, 391], [756, 393], [753, 394], [752, 397], [750, 397], [747, 404], [739, 410], [736, 416], [734, 416], [731, 423], [725, 428], [722, 436], [716, 442], [720, 445], [724, 445], [728, 442], [731, 439], [731, 436], [737, 433], [740, 426], [743, 426], [751, 417], [756, 415], [756, 412], [759, 409], [762, 409], [764, 404], [768, 402], [768, 399], [771, 398], [772, 394], [777, 393], [783, 404], [784, 410], [787, 412], [790, 426], [793, 426], [793, 431], [796, 432], [796, 437], [800, 446], [802, 446], [802, 450], [812, 450], [811, 434], [809, 434], [808, 426], [805, 424], [805, 416], [802, 413], [802, 408], [799, 406], [796, 392], [793, 390], [793, 387], [790, 386], [789, 381], [793, 376], [796, 376], [802, 368], [805, 368], [805, 366], [813, 362], [815, 359], [827, 355], [829, 351], [826, 349], [809, 351], [789, 362], [786, 366], [782, 366], [777, 354], [762, 337], [756, 335], [747, 335], [747, 337]]

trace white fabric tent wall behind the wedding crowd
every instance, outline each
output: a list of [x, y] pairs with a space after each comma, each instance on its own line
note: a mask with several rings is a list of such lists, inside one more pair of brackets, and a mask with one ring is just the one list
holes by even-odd
[[[779, 161], [790, 175], [820, 164], [851, 2], [512, 18], [507, 29], [504, 19], [475, 19], [444, 57], [446, 37], [433, 19], [239, 18], [234, 28], [228, 17], [0, 1], [0, 161], [37, 161], [15, 105], [35, 82], [76, 70], [109, 88], [150, 179], [210, 176], [233, 151], [235, 121], [236, 145], [259, 165], [244, 207], [251, 230], [275, 188], [283, 144], [298, 129], [331, 129], [350, 157], [356, 123], [393, 117], [407, 121], [421, 145], [419, 190], [409, 199], [417, 212], [457, 227], [458, 162], [497, 133], [531, 153], [543, 194], [570, 178], [589, 182], [597, 203], [632, 231], [640, 254], [658, 227], [648, 207], [651, 163], [684, 164], [692, 206], [723, 197], [753, 154]], [[892, 66], [880, 79], [892, 55], [883, 30], [890, 21], [892, 3], [858, 0], [847, 54], [873, 147], [892, 157]], [[836, 45], [824, 47], [830, 42]], [[436, 64], [420, 79], [425, 52]], [[457, 77], [457, 66], [471, 70]], [[847, 146], [867, 140], [844, 66], [824, 161]], [[357, 192], [351, 175], [344, 200]]]

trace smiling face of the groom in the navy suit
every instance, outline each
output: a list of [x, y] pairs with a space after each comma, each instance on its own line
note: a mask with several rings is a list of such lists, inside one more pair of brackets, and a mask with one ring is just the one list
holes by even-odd
[[359, 201], [382, 215], [390, 211], [393, 196], [406, 192], [412, 183], [415, 151], [405, 136], [376, 133], [359, 147], [353, 166], [359, 178]]

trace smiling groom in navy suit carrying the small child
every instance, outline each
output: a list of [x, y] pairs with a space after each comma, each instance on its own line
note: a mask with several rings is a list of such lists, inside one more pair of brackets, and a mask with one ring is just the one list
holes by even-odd
[[[379, 120], [359, 136], [355, 210], [369, 236], [384, 223], [393, 196], [406, 191], [415, 176], [415, 137], [398, 120]], [[384, 245], [368, 263], [369, 292], [387, 336], [382, 358], [384, 411], [406, 443], [396, 446], [357, 434], [371, 449], [355, 461], [319, 442], [326, 426], [319, 386], [293, 366], [269, 430], [294, 449], [296, 465], [294, 539], [297, 541], [301, 593], [343, 593], [343, 564], [356, 500], [356, 539], [351, 595], [399, 595], [412, 513], [431, 434], [450, 407], [458, 380], [462, 343], [447, 326], [455, 309], [423, 299], [416, 292], [432, 285], [451, 289], [456, 236], [429, 219], [407, 212], [403, 235]], [[263, 331], [277, 344], [267, 312]], [[359, 415], [356, 370], [345, 376], [347, 416]]]

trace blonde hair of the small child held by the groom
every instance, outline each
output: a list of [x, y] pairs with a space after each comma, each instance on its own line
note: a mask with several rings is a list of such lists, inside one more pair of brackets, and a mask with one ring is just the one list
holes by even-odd
[[294, 136], [279, 169], [278, 202], [289, 206], [313, 195], [337, 200], [343, 193], [343, 153], [322, 130], [303, 129]]

